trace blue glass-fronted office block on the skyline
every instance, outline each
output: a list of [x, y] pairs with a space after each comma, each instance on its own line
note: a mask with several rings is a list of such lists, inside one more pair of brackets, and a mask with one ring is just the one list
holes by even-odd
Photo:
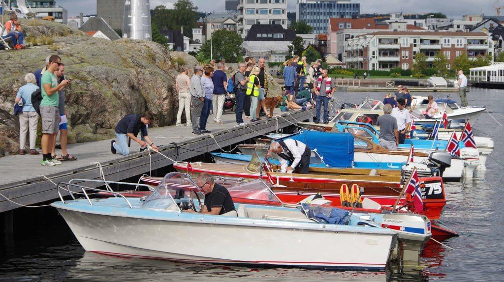
[[325, 33], [330, 18], [358, 18], [360, 4], [350, 0], [298, 0], [296, 21], [313, 28], [313, 33]]

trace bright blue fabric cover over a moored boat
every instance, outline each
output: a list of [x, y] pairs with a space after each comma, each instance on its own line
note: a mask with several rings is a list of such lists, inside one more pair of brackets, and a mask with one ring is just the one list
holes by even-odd
[[334, 133], [301, 130], [298, 134], [283, 139], [294, 139], [306, 144], [311, 150], [317, 149], [330, 167], [353, 166], [353, 135], [351, 133]]

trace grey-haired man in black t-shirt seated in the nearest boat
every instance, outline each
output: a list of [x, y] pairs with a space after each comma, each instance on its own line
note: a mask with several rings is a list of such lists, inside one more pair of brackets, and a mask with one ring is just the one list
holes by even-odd
[[[201, 209], [202, 214], [222, 215], [235, 210], [233, 199], [227, 189], [216, 184], [214, 177], [209, 173], [200, 174], [196, 184], [205, 194], [205, 203]], [[194, 213], [193, 210], [186, 212]]]

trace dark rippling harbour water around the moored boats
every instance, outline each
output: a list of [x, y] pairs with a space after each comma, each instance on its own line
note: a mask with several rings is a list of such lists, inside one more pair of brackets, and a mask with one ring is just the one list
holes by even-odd
[[[428, 95], [428, 93], [423, 93]], [[502, 90], [471, 89], [471, 105], [486, 105], [504, 123]], [[360, 102], [365, 97], [382, 98], [384, 93], [344, 92], [338, 98]], [[440, 93], [439, 97], [446, 97]], [[459, 101], [458, 95], [451, 99]], [[166, 281], [166, 280], [332, 280], [332, 281], [502, 281], [501, 183], [504, 169], [502, 127], [486, 113], [473, 125], [474, 133], [490, 136], [495, 150], [488, 170], [461, 183], [446, 183], [448, 204], [442, 221], [459, 231], [460, 237], [444, 241], [450, 250], [429, 243], [419, 267], [392, 264], [384, 272], [335, 272], [297, 268], [251, 269], [206, 264], [174, 263], [148, 259], [124, 259], [85, 252], [70, 229], [51, 208], [21, 210], [15, 214], [14, 246], [0, 245], [0, 281]], [[488, 135], [485, 135], [488, 134]], [[169, 236], [169, 234], [166, 234]], [[197, 238], [195, 238], [197, 240]], [[321, 251], [324, 242], [306, 246]]]

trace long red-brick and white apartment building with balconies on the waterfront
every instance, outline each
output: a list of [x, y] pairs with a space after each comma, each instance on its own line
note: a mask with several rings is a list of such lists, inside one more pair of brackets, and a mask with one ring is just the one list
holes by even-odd
[[411, 69], [418, 52], [425, 54], [429, 67], [437, 52], [442, 52], [450, 68], [462, 54], [471, 59], [493, 55], [493, 41], [481, 32], [379, 31], [348, 39], [346, 52], [350, 68]]

